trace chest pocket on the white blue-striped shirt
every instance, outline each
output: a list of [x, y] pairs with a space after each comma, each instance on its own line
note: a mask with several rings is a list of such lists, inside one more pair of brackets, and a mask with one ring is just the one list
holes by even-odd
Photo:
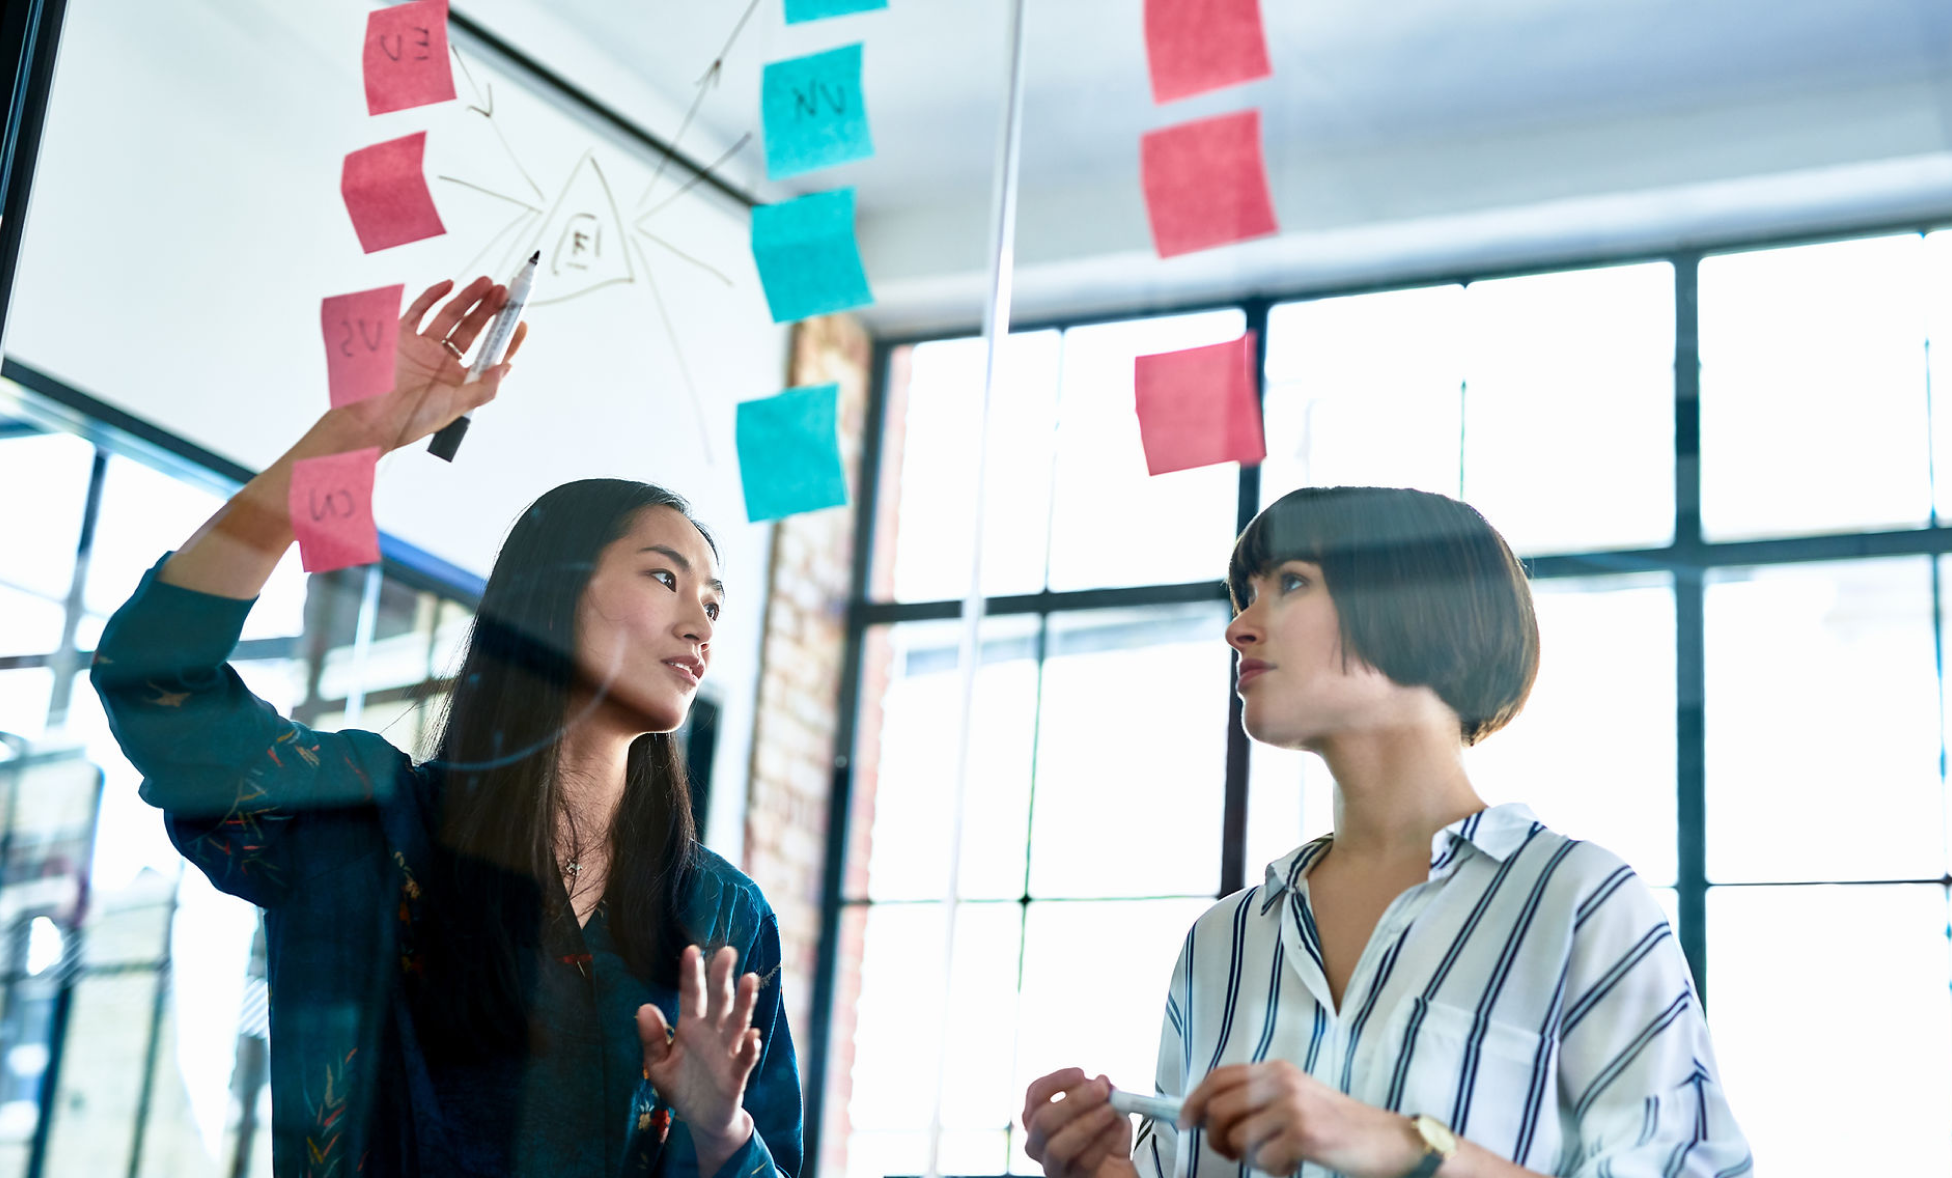
[[1390, 1108], [1437, 1117], [1507, 1160], [1552, 1157], [1558, 1049], [1550, 1039], [1476, 1010], [1411, 998], [1390, 1020]]

